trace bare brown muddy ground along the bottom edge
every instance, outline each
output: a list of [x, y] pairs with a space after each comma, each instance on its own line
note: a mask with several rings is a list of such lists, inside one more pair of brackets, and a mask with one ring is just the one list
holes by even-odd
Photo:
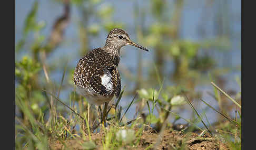
[[[102, 149], [102, 141], [104, 140], [104, 133], [94, 133], [91, 135], [92, 141], [95, 145], [91, 144], [87, 138], [86, 141], [82, 138], [75, 138], [71, 140], [50, 140], [51, 149]], [[229, 149], [227, 145], [212, 138], [210, 134], [204, 134], [198, 138], [196, 133], [180, 133], [179, 131], [165, 130], [162, 137], [156, 133], [152, 128], [142, 132], [140, 141], [136, 147], [124, 145], [124, 149]], [[157, 142], [158, 141], [158, 142]], [[157, 143], [157, 144], [156, 144]], [[156, 145], [156, 147], [154, 147]], [[120, 149], [120, 148], [119, 148]]]

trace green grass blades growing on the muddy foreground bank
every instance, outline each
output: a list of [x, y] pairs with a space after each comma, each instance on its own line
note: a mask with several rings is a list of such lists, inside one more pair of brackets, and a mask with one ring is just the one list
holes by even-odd
[[[122, 91], [122, 92], [124, 92], [124, 91]], [[148, 125], [154, 124], [152, 122], [143, 122], [143, 120], [140, 116], [137, 116], [137, 118], [138, 118], [137, 120], [136, 119], [132, 120], [130, 122], [131, 123], [130, 126], [125, 125], [125, 124], [123, 124], [123, 125], [120, 124], [120, 122], [122, 121], [122, 118], [124, 117], [126, 112], [129, 110], [130, 106], [133, 104], [133, 102], [135, 100], [135, 97], [134, 97], [132, 99], [132, 101], [130, 102], [130, 104], [128, 105], [127, 109], [125, 110], [124, 115], [120, 118], [120, 120], [116, 120], [116, 119], [109, 120], [109, 121], [107, 121], [106, 128], [99, 126], [99, 127], [97, 127], [97, 130], [91, 131], [91, 128], [89, 127], [89, 124], [88, 124], [86, 109], [83, 109], [84, 112], [81, 112], [80, 110], [77, 110], [77, 109], [79, 109], [79, 107], [71, 108], [71, 106], [66, 105], [60, 99], [55, 97], [53, 94], [51, 94], [51, 93], [48, 93], [48, 94], [52, 95], [56, 101], [60, 102], [60, 104], [65, 105], [67, 111], [72, 112], [72, 113], [69, 113], [69, 115], [67, 115], [67, 116], [58, 114], [56, 119], [54, 119], [54, 117], [51, 117], [51, 120], [47, 120], [45, 118], [45, 116], [43, 115], [43, 113], [38, 115], [38, 117], [35, 117], [35, 115], [31, 111], [31, 109], [29, 109], [26, 101], [21, 100], [19, 95], [16, 94], [16, 104], [17, 104], [18, 108], [21, 109], [21, 111], [24, 113], [25, 118], [26, 118], [26, 121], [25, 121], [25, 120], [21, 120], [20, 117], [16, 116], [17, 123], [16, 123], [16, 138], [15, 138], [16, 146], [15, 147], [17, 149], [23, 149], [25, 147], [28, 149], [34, 149], [34, 148], [47, 149], [49, 147], [49, 143], [48, 143], [49, 140], [59, 140], [59, 141], [61, 141], [61, 143], [63, 143], [64, 145], [67, 146], [67, 143], [66, 143], [67, 140], [72, 140], [72, 139], [76, 139], [76, 138], [80, 138], [80, 137], [83, 137], [84, 142], [80, 141], [78, 143], [80, 143], [81, 145], [84, 145], [85, 147], [91, 147], [93, 149], [93, 148], [97, 147], [97, 145], [95, 144], [96, 143], [95, 139], [93, 140], [93, 138], [92, 138], [93, 136], [95, 136], [96, 132], [104, 133], [102, 135], [102, 141], [101, 141], [101, 145], [102, 145], [103, 149], [113, 149], [113, 148], [118, 149], [121, 147], [125, 148], [127, 146], [136, 147], [141, 142], [141, 137], [143, 135], [143, 131], [145, 130], [145, 124], [148, 124]], [[154, 93], [153, 93], [153, 95], [154, 95]], [[122, 97], [122, 95], [121, 95], [121, 97]], [[119, 98], [117, 100], [117, 102], [119, 102], [121, 99], [122, 98]], [[152, 99], [153, 99], [153, 101], [147, 101], [148, 106], [149, 106], [149, 102], [152, 102], [152, 106], [153, 106], [153, 108], [150, 108], [150, 107], [148, 108], [148, 110], [149, 110], [148, 115], [152, 115], [155, 107], [159, 106], [158, 104], [156, 104], [155, 98], [153, 97]], [[230, 148], [234, 148], [234, 149], [241, 148], [241, 115], [240, 115], [240, 112], [238, 111], [238, 120], [234, 121], [234, 120], [231, 120], [228, 116], [226, 116], [223, 113], [219, 112], [218, 110], [214, 109], [210, 104], [206, 103], [205, 101], [203, 101], [203, 103], [205, 103], [207, 106], [209, 106], [209, 108], [213, 109], [216, 112], [216, 114], [221, 114], [225, 119], [227, 119], [229, 121], [229, 124], [222, 125], [223, 128], [219, 129], [219, 127], [221, 126], [220, 125], [218, 127], [218, 129], [216, 129], [216, 130], [218, 130], [218, 136], [212, 135], [211, 138], [219, 139], [219, 140], [224, 138], [224, 140], [226, 141], [225, 143]], [[85, 105], [86, 104], [87, 103], [85, 103]], [[200, 115], [196, 111], [196, 109], [194, 108], [194, 106], [192, 105], [192, 103], [190, 101], [188, 101], [188, 104], [190, 104], [191, 109], [193, 111], [195, 111], [196, 116], [198, 117], [198, 119], [201, 122], [203, 122], [201, 115], [204, 115], [207, 119], [207, 116], [205, 115], [205, 113]], [[115, 113], [109, 114], [108, 115], [109, 119], [111, 117], [117, 116], [116, 108], [120, 108], [120, 106], [119, 105], [115, 106]], [[162, 108], [162, 107], [159, 106], [159, 108]], [[186, 122], [188, 122], [191, 125], [188, 129], [185, 129], [184, 131], [182, 131], [183, 134], [193, 131], [194, 129], [191, 128], [192, 126], [193, 126], [193, 128], [201, 131], [201, 135], [199, 135], [199, 137], [201, 137], [203, 134], [205, 134], [205, 131], [209, 131], [209, 128], [208, 128], [209, 126], [206, 126], [205, 124], [204, 124], [205, 125], [204, 128], [196, 125], [199, 123], [198, 121], [196, 121], [198, 119], [191, 121], [189, 119], [185, 119], [184, 117], [180, 116], [177, 113], [174, 113], [173, 111], [166, 110], [164, 108], [162, 108], [162, 109], [165, 112], [171, 113], [172, 114], [171, 117], [173, 117], [173, 116], [178, 117], [180, 119], [185, 120]], [[117, 109], [117, 111], [121, 111], [121, 110]], [[84, 117], [82, 117], [80, 114], [84, 114]], [[93, 115], [93, 113], [92, 113], [92, 115]], [[147, 120], [147, 121], [150, 121], [150, 120]], [[208, 119], [207, 119], [207, 121], [208, 121]], [[77, 124], [79, 126], [85, 126], [85, 127], [84, 127], [84, 130], [82, 130], [82, 128], [80, 128], [80, 129], [78, 129], [78, 131], [76, 131], [76, 133], [74, 133], [73, 132], [74, 126]], [[210, 123], [208, 121], [208, 125], [209, 124]], [[117, 137], [116, 133], [122, 132], [122, 131], [126, 132], [126, 134], [125, 134], [126, 137], [122, 138], [121, 135], [118, 135], [119, 137]], [[132, 135], [129, 135], [128, 131], [129, 132], [134, 131], [134, 133], [129, 133], [129, 134], [132, 134]], [[234, 131], [235, 131], [235, 133], [234, 133]], [[210, 131], [210, 133], [211, 133], [211, 131]], [[128, 135], [131, 137], [129, 137]], [[232, 140], [234, 138], [234, 136], [236, 136], [235, 141]], [[184, 138], [184, 140], [189, 141], [191, 139]], [[154, 146], [155, 146], [154, 144], [149, 144], [145, 147], [145, 149], [150, 149], [150, 148], [153, 148]], [[180, 146], [180, 148], [182, 148], [182, 147], [183, 148], [185, 147], [184, 143]]]

